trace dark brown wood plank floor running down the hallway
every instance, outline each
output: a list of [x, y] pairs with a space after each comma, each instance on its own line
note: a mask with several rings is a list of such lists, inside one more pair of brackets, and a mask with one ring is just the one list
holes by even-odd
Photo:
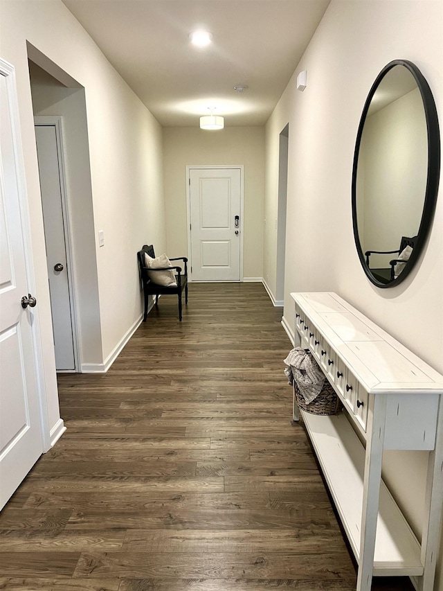
[[192, 284], [183, 322], [163, 297], [106, 375], [59, 376], [67, 431], [0, 515], [0, 589], [355, 590], [281, 315], [260, 284]]

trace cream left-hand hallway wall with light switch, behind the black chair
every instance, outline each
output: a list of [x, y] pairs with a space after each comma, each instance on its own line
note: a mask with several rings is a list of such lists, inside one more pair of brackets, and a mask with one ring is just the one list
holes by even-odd
[[[60, 0], [1, 0], [0, 11], [0, 55], [17, 78], [52, 428], [59, 410], [26, 42], [85, 89], [101, 330], [100, 358], [85, 360], [91, 370], [105, 369], [141, 319], [136, 251], [148, 237], [165, 249], [161, 126]], [[102, 248], [99, 229], [105, 232]]]

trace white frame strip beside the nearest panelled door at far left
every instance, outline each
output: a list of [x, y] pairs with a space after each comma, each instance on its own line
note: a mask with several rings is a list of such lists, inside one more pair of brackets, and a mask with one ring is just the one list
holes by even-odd
[[[0, 76], [6, 78], [6, 91], [10, 108], [10, 125], [12, 142], [14, 144], [15, 164], [17, 170], [17, 195], [21, 217], [21, 235], [24, 243], [24, 262], [26, 269], [26, 281], [30, 293], [37, 294], [37, 282], [35, 281], [35, 265], [33, 261], [33, 240], [30, 231], [30, 212], [28, 204], [28, 192], [26, 188], [26, 173], [21, 143], [21, 130], [19, 124], [19, 102], [17, 96], [17, 82], [15, 67], [0, 58]], [[44, 355], [42, 346], [42, 333], [40, 330], [39, 307], [33, 309], [31, 330], [33, 335], [35, 377], [37, 381], [37, 398], [40, 412], [40, 432], [42, 435], [42, 453], [51, 449], [51, 431], [48, 418], [48, 403], [46, 400], [46, 383], [44, 380]]]

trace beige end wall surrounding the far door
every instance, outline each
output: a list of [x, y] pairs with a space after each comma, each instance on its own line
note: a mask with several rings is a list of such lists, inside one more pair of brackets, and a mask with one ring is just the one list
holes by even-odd
[[[196, 127], [165, 127], [163, 157], [168, 256], [188, 251], [186, 225], [186, 166], [244, 165], [245, 278], [263, 276], [264, 128], [225, 127], [218, 131]], [[156, 252], [160, 249], [156, 247]]]

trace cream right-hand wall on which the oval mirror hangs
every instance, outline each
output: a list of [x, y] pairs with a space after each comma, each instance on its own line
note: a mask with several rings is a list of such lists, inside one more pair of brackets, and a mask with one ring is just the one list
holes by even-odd
[[[334, 291], [443, 372], [443, 201], [419, 264], [397, 288], [368, 281], [352, 233], [356, 132], [368, 91], [391, 60], [415, 62], [433, 91], [443, 125], [442, 3], [332, 0], [266, 125], [265, 211], [276, 211], [278, 134], [289, 122], [284, 319], [289, 293]], [[421, 34], [417, 34], [421, 31]], [[296, 74], [307, 69], [307, 89]], [[268, 215], [268, 213], [266, 213]], [[269, 247], [267, 244], [269, 243]], [[265, 252], [275, 248], [268, 231]], [[273, 260], [264, 275], [275, 276]], [[421, 531], [426, 453], [390, 452], [384, 473], [415, 531]], [[435, 589], [443, 588], [443, 549]]]

